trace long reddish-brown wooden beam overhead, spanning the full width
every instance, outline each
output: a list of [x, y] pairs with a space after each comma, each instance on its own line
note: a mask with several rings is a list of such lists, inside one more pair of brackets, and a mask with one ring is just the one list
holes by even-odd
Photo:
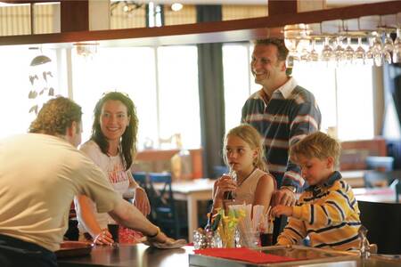
[[[62, 30], [63, 32], [56, 34], [0, 36], [0, 45], [46, 44], [50, 46], [71, 46], [73, 43], [77, 42], [98, 42], [104, 46], [148, 46], [234, 42], [267, 36], [282, 36], [282, 27], [288, 24], [319, 23], [330, 20], [352, 21], [352, 19], [364, 17], [368, 18], [368, 23], [365, 23], [365, 25], [369, 25], [371, 19], [366, 16], [388, 15], [401, 12], [401, 1], [359, 4], [313, 12], [296, 12], [296, 1], [270, 0], [268, 6], [270, 15], [268, 17], [203, 22], [160, 28], [125, 28], [88, 31], [79, 29], [79, 27], [82, 26], [81, 23], [72, 23], [69, 21], [77, 20], [77, 16], [74, 17], [74, 6], [73, 4], [71, 5], [71, 2], [74, 1], [67, 2], [70, 2], [70, 9], [68, 12], [68, 16], [70, 17], [63, 22], [63, 8], [61, 6], [61, 30], [63, 23], [64, 25], [69, 23], [69, 25], [72, 25], [72, 28], [64, 29]], [[81, 2], [82, 4], [82, 1], [77, 2]], [[80, 12], [82, 13], [82, 9]], [[396, 16], [393, 17], [395, 18]], [[371, 26], [375, 27], [377, 20], [374, 20], [374, 17], [372, 18]], [[85, 20], [87, 21], [87, 17]], [[79, 30], [74, 30], [74, 28], [78, 28]]]

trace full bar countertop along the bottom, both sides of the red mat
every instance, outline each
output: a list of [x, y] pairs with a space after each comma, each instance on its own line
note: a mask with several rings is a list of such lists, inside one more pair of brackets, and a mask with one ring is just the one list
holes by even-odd
[[[369, 260], [361, 262], [361, 259], [353, 253], [336, 252], [312, 247], [261, 247], [262, 251], [269, 254], [291, 256], [299, 258], [299, 262], [273, 263], [274, 266], [400, 266], [401, 259], [387, 259], [380, 255], [373, 256]], [[380, 256], [380, 257], [379, 257]], [[378, 258], [379, 257], [379, 258]], [[218, 267], [250, 267], [257, 266], [252, 263], [228, 260], [217, 257], [194, 255], [193, 247], [183, 247], [175, 249], [157, 249], [143, 244], [120, 245], [119, 247], [97, 246], [92, 253], [86, 256], [61, 258], [58, 261], [60, 267], [70, 266], [143, 266], [143, 267], [181, 267], [181, 266], [218, 266]], [[362, 265], [360, 265], [362, 263]], [[317, 265], [316, 265], [317, 264]], [[258, 266], [271, 266], [265, 263]]]

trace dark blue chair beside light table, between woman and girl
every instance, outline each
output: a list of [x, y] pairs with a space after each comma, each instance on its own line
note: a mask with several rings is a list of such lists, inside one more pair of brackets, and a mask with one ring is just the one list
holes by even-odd
[[[180, 216], [178, 213], [171, 182], [171, 174], [169, 173], [149, 174], [150, 192], [148, 197], [151, 201], [151, 217], [155, 223], [168, 236], [179, 239], [186, 237], [188, 223], [186, 216]], [[156, 184], [157, 186], [155, 186]], [[185, 232], [184, 235], [182, 231]]]

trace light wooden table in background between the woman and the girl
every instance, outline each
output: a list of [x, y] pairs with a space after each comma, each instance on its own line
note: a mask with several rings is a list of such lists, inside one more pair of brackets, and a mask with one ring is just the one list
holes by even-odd
[[[173, 197], [185, 200], [188, 210], [188, 240], [192, 242], [192, 232], [198, 228], [198, 201], [211, 200], [215, 180], [201, 178], [191, 181], [172, 182]], [[158, 184], [154, 184], [155, 189]]]

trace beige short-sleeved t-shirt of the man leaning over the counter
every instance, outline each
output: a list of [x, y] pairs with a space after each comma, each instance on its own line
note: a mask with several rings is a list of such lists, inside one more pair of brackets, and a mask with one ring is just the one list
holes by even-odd
[[0, 140], [0, 234], [59, 249], [79, 194], [101, 213], [120, 201], [102, 170], [69, 142], [47, 134]]

